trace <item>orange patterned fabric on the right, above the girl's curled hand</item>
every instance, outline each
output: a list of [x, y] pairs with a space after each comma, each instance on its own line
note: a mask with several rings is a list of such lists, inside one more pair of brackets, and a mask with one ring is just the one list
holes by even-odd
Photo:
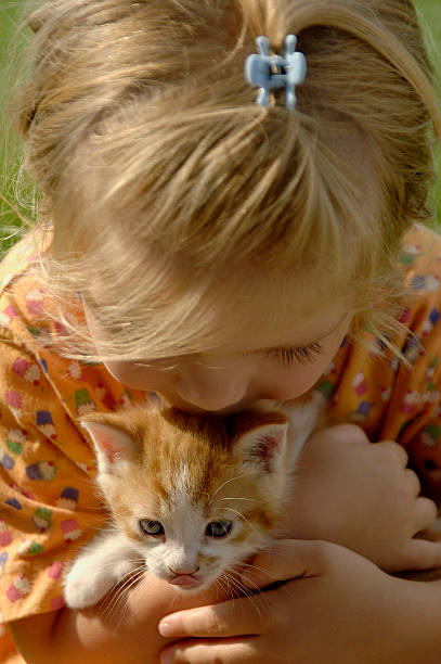
[[317, 390], [334, 423], [353, 422], [373, 442], [403, 445], [424, 494], [441, 503], [441, 237], [415, 226], [400, 264], [410, 292], [393, 342], [406, 363], [366, 330], [363, 343], [340, 348]]

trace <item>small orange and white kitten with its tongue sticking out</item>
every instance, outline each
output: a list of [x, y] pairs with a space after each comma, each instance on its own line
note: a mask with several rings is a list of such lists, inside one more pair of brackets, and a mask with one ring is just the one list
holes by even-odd
[[222, 418], [157, 407], [82, 418], [114, 525], [69, 569], [68, 606], [140, 570], [200, 591], [271, 541], [320, 404], [268, 404]]

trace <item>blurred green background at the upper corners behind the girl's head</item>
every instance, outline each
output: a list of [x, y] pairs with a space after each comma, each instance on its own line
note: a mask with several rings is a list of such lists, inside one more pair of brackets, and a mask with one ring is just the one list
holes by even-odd
[[[368, 0], [366, 0], [368, 1]], [[429, 49], [438, 71], [438, 79], [441, 89], [441, 0], [415, 0], [415, 4], [420, 10], [423, 24], [428, 34]], [[12, 50], [10, 39], [17, 27], [17, 7], [21, 5], [21, 0], [0, 0], [0, 117], [2, 108], [2, 93], [7, 89], [5, 76], [8, 66], [11, 62]], [[14, 194], [14, 180], [17, 178], [17, 166], [11, 164], [11, 150], [8, 148], [8, 131], [4, 130], [4, 125], [0, 123], [1, 141], [0, 141], [0, 254], [8, 248], [13, 241], [13, 230], [20, 225], [18, 215], [22, 214], [28, 218], [31, 217], [31, 210], [27, 208], [26, 201], [30, 196], [25, 196], [25, 201], [17, 201]], [[440, 152], [440, 168], [441, 168], [441, 152]], [[15, 207], [11, 209], [9, 205], [1, 199], [1, 194], [5, 196]], [[441, 229], [441, 179], [434, 192], [438, 201], [438, 228]], [[18, 213], [18, 214], [17, 214]]]

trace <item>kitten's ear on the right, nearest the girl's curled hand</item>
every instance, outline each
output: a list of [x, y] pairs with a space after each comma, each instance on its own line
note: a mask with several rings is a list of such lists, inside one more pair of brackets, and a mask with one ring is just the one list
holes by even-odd
[[236, 455], [250, 470], [273, 473], [284, 460], [287, 445], [287, 422], [270, 422], [251, 429], [236, 443]]

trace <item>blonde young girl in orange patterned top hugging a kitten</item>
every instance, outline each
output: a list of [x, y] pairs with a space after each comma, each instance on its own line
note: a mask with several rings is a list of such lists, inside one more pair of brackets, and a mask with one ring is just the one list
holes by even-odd
[[[28, 25], [14, 100], [41, 197], [0, 276], [2, 661], [439, 662], [441, 582], [389, 574], [441, 565], [415, 537], [441, 496], [421, 225], [441, 118], [411, 0], [47, 0]], [[288, 35], [297, 101], [255, 103], [255, 40], [284, 56]], [[263, 87], [287, 75], [254, 62]], [[290, 537], [252, 561], [254, 584], [289, 583], [232, 601], [147, 577], [65, 608], [63, 567], [106, 519], [81, 414], [311, 390], [333, 425]]]

